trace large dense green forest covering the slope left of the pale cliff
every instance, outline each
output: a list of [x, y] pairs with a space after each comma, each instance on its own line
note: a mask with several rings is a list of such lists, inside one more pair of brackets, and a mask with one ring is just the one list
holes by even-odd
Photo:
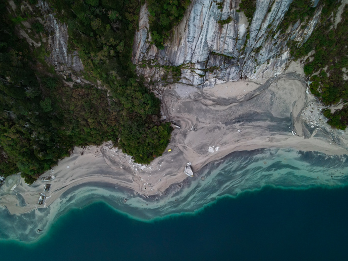
[[85, 78], [100, 80], [105, 88], [65, 85], [45, 63], [45, 50], [29, 47], [14, 33], [23, 20], [36, 33], [46, 33], [35, 19], [36, 7], [9, 13], [7, 3], [1, 2], [0, 175], [20, 172], [32, 183], [68, 156], [73, 146], [107, 140], [138, 163], [161, 155], [172, 128], [160, 122], [160, 101], [138, 79], [131, 63], [141, 2], [51, 0], [50, 4], [68, 24], [69, 47], [79, 51]]

